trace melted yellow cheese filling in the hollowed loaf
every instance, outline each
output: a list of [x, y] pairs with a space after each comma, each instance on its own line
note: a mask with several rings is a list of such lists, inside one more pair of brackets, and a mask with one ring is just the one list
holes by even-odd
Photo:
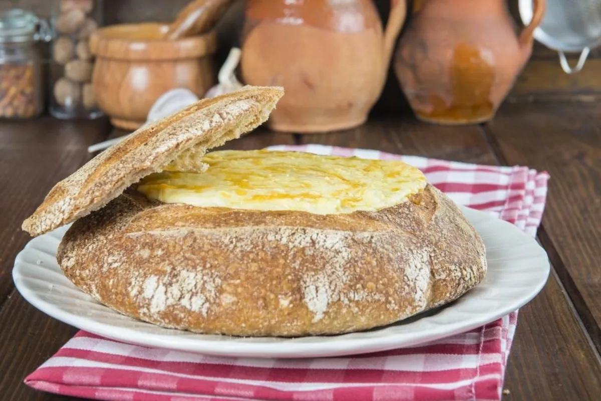
[[421, 171], [400, 161], [266, 150], [212, 152], [202, 161], [204, 173], [168, 167], [138, 191], [163, 203], [337, 214], [394, 206], [426, 186]]

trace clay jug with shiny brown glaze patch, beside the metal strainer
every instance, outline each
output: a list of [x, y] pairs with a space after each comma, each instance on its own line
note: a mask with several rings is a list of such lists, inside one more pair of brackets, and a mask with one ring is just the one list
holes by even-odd
[[423, 0], [395, 55], [394, 69], [416, 116], [441, 124], [490, 120], [532, 53], [545, 14], [521, 34], [505, 0]]

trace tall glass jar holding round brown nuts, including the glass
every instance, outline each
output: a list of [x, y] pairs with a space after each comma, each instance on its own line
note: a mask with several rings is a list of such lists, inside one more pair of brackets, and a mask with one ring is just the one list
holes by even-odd
[[58, 0], [53, 3], [50, 114], [56, 118], [103, 115], [92, 87], [94, 58], [90, 35], [102, 20], [100, 0]]

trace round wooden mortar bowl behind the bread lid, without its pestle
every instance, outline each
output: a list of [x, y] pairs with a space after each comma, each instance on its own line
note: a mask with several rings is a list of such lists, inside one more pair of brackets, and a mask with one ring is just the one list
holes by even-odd
[[167, 29], [159, 23], [111, 25], [92, 35], [92, 85], [114, 126], [137, 129], [154, 101], [168, 90], [186, 88], [203, 97], [215, 84], [215, 32], [163, 40]]

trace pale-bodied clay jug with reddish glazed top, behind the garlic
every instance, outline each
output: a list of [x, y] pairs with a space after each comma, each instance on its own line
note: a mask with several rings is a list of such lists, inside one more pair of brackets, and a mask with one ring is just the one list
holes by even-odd
[[242, 78], [281, 85], [269, 126], [328, 132], [358, 126], [382, 92], [404, 0], [391, 1], [386, 31], [371, 0], [247, 0]]

